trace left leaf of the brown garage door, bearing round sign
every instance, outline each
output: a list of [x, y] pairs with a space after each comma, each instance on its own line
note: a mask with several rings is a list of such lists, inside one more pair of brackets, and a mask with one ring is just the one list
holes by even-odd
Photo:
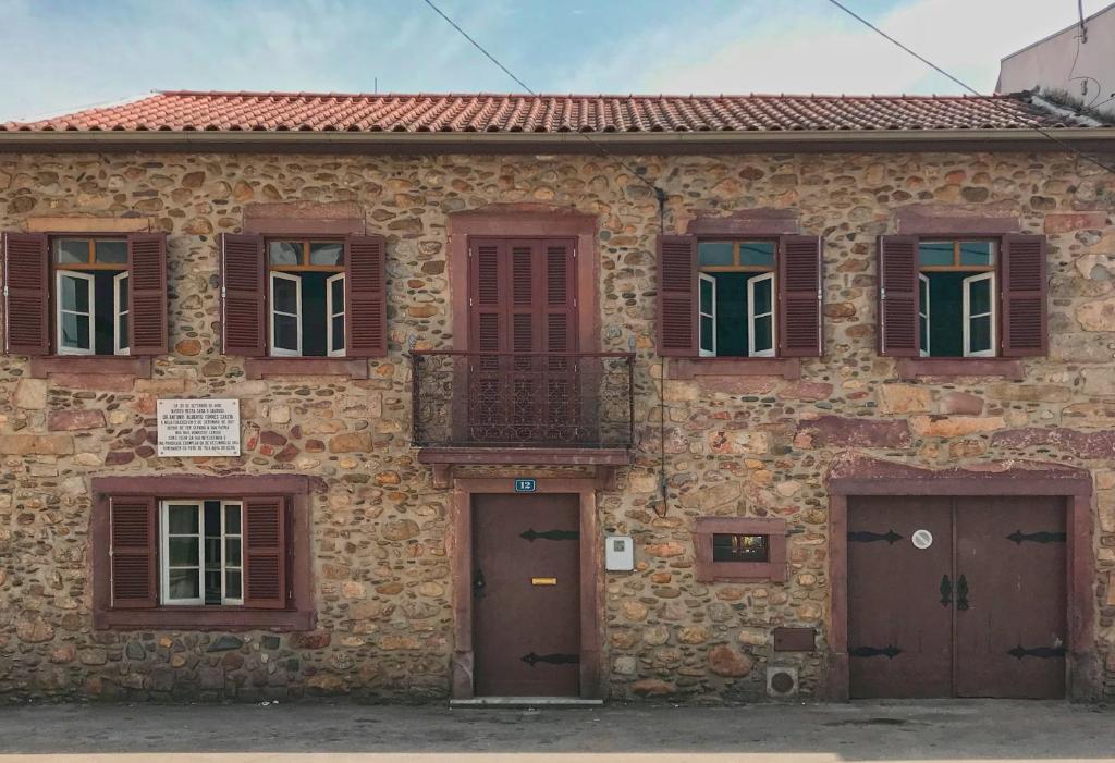
[[[849, 509], [849, 659], [853, 697], [952, 694], [948, 498], [860, 498]], [[925, 549], [913, 534], [928, 530]]]

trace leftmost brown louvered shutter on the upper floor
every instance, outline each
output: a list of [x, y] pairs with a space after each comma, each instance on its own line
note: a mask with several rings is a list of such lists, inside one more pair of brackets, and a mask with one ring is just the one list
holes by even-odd
[[50, 353], [50, 251], [47, 237], [3, 234], [4, 352]]

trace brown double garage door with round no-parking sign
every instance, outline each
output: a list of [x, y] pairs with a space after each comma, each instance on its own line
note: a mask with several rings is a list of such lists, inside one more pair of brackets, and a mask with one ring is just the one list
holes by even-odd
[[852, 500], [852, 696], [1064, 696], [1065, 517], [1051, 497]]

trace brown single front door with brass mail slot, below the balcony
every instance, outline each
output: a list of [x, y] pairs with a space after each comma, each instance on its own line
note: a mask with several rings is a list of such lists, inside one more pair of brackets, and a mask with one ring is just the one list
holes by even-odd
[[578, 696], [575, 495], [473, 497], [473, 648], [479, 696]]

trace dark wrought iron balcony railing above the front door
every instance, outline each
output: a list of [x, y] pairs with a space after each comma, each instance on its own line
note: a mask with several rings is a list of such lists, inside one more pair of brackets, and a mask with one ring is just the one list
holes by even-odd
[[634, 354], [415, 351], [414, 444], [630, 448]]

